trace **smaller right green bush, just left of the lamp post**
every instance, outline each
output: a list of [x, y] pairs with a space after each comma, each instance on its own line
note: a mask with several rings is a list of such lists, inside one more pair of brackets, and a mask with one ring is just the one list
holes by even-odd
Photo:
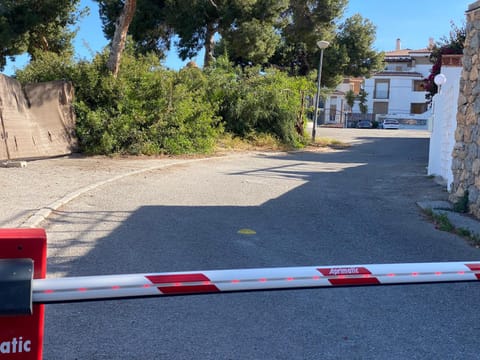
[[315, 91], [311, 82], [276, 70], [226, 71], [225, 66], [210, 71], [210, 79], [226, 131], [244, 138], [265, 133], [291, 146], [303, 145], [297, 123], [304, 123], [305, 98]]

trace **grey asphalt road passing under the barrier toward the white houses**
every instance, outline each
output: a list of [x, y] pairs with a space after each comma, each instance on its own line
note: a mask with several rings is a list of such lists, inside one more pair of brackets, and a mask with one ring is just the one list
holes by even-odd
[[[354, 134], [345, 150], [213, 158], [97, 187], [43, 224], [49, 276], [479, 259], [415, 204], [446, 197], [425, 175], [425, 136], [347, 130], [331, 135]], [[449, 283], [54, 304], [44, 357], [474, 359], [479, 296]]]

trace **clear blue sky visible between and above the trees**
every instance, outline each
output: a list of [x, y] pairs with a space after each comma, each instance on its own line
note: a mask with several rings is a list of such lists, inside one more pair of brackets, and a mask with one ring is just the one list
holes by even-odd
[[[395, 41], [401, 39], [402, 48], [421, 49], [428, 45], [428, 39], [440, 40], [448, 36], [450, 22], [462, 25], [465, 11], [473, 0], [350, 0], [345, 16], [359, 13], [377, 27], [376, 50], [394, 50]], [[100, 51], [107, 45], [103, 36], [98, 7], [92, 0], [81, 0], [81, 6], [90, 8], [90, 16], [79, 24], [75, 49], [80, 58], [91, 58], [91, 52]], [[201, 63], [202, 55], [194, 59]], [[14, 68], [21, 68], [28, 61], [22, 56], [7, 65], [4, 73], [11, 75]], [[178, 69], [184, 65], [175, 55], [169, 54], [165, 65]]]

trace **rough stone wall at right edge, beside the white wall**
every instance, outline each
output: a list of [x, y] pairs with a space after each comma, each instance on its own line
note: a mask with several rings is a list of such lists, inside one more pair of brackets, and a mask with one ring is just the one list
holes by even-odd
[[450, 201], [458, 201], [468, 191], [470, 213], [480, 218], [480, 1], [470, 4], [466, 15]]

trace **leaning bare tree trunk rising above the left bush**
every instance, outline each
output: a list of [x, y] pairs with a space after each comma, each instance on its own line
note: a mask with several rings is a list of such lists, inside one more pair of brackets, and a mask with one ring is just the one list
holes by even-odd
[[117, 77], [120, 69], [120, 59], [127, 41], [128, 27], [132, 22], [136, 6], [137, 0], [125, 0], [122, 13], [115, 23], [115, 34], [113, 35], [110, 56], [107, 61], [107, 67], [114, 77]]

